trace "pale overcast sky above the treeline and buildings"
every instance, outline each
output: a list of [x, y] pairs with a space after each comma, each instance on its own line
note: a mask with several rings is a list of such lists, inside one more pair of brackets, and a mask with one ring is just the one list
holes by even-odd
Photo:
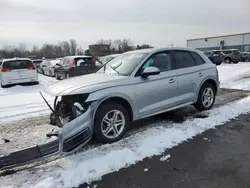
[[0, 0], [0, 46], [74, 38], [186, 46], [186, 39], [250, 32], [250, 0]]

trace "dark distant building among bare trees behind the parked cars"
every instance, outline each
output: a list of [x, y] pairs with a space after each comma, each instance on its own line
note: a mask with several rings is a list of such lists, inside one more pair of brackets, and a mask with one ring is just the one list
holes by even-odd
[[97, 56], [97, 57], [106, 56], [106, 55], [111, 54], [110, 45], [109, 44], [89, 45], [89, 49], [86, 50], [85, 53], [88, 53], [88, 55]]

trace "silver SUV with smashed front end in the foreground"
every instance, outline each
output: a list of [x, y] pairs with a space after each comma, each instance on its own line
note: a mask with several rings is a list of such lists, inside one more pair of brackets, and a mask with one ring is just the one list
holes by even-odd
[[94, 74], [57, 82], [45, 89], [55, 96], [51, 122], [63, 151], [81, 147], [92, 134], [100, 142], [123, 137], [130, 122], [193, 104], [212, 108], [218, 71], [206, 55], [180, 47], [131, 51]]

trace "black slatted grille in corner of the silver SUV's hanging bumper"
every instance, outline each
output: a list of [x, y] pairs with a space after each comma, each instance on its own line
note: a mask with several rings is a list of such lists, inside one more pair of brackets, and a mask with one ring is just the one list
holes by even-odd
[[82, 130], [81, 132], [63, 142], [63, 151], [70, 152], [74, 150], [75, 148], [86, 142], [90, 137], [91, 131], [89, 128]]

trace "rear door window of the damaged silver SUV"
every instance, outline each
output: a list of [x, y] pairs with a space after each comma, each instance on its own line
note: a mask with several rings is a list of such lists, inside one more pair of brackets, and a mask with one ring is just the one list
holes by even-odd
[[174, 57], [177, 69], [195, 66], [194, 58], [187, 51], [174, 51]]

